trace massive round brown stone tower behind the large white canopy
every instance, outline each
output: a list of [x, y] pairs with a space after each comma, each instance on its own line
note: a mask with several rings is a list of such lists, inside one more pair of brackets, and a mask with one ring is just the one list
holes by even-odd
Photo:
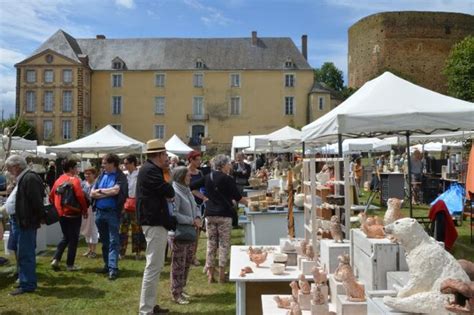
[[349, 86], [390, 71], [446, 93], [442, 74], [451, 47], [474, 34], [474, 16], [446, 12], [384, 12], [349, 28]]

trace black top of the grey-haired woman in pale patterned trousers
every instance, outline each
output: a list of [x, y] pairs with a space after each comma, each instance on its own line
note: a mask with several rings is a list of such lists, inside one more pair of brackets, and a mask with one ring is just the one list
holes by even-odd
[[232, 201], [239, 201], [242, 199], [242, 195], [232, 177], [219, 171], [213, 171], [190, 186], [191, 190], [201, 187], [206, 188], [209, 198], [206, 202], [206, 216], [233, 217]]

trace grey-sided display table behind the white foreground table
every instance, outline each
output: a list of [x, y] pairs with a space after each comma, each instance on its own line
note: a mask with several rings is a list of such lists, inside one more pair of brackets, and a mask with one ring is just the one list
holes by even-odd
[[[288, 210], [248, 211], [246, 219], [239, 219], [244, 226], [245, 245], [279, 245], [280, 237], [288, 236]], [[304, 211], [294, 210], [295, 237], [304, 237]]]

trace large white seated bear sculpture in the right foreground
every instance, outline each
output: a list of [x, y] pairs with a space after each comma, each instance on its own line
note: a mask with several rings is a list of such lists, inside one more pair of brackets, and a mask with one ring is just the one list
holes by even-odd
[[445, 308], [452, 294], [445, 295], [441, 283], [446, 279], [468, 283], [469, 277], [459, 262], [431, 238], [415, 219], [404, 218], [385, 227], [403, 247], [410, 277], [396, 297], [384, 297], [389, 307], [412, 313], [450, 314]]

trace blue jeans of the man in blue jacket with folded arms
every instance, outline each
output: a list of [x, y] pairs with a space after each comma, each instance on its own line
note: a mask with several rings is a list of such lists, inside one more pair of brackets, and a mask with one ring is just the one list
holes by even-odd
[[102, 242], [102, 258], [109, 274], [118, 271], [118, 256], [120, 252], [120, 213], [117, 210], [97, 209], [95, 224], [99, 230]]

